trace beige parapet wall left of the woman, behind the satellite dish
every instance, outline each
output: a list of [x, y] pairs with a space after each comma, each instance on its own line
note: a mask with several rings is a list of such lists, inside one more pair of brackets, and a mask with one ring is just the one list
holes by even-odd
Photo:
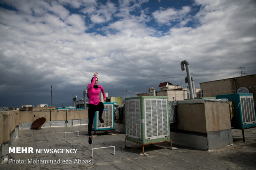
[[[50, 121], [50, 115], [52, 117]], [[19, 137], [19, 128], [30, 128], [33, 121], [45, 117], [44, 126], [73, 126], [86, 123], [88, 109], [42, 111], [1, 111], [0, 112], [0, 162], [8, 159], [8, 147], [15, 137]], [[43, 127], [43, 126], [42, 126]]]

